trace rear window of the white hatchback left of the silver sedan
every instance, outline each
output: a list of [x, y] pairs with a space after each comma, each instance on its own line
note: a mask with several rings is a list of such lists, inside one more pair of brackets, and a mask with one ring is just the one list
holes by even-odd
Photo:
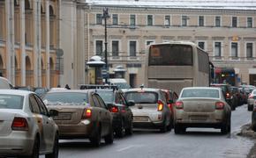
[[135, 104], [155, 104], [157, 102], [158, 94], [148, 91], [132, 91], [124, 93], [127, 100], [133, 100]]

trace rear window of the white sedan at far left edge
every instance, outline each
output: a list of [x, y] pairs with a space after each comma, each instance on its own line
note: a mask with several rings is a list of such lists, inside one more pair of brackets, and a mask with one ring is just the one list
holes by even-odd
[[24, 97], [0, 94], [0, 109], [22, 109]]

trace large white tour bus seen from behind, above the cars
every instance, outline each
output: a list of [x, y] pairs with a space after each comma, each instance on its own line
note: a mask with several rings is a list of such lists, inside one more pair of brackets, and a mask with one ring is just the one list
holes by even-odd
[[209, 86], [207, 52], [192, 42], [173, 41], [147, 47], [145, 86], [175, 90]]

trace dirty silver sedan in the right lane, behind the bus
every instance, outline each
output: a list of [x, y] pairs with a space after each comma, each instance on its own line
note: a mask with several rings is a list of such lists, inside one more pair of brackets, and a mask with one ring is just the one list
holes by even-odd
[[187, 127], [221, 128], [230, 133], [231, 110], [220, 88], [184, 88], [174, 108], [175, 133], [185, 132]]

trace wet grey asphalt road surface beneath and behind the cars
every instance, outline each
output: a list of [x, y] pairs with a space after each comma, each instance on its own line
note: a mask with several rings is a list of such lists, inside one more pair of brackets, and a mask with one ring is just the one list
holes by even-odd
[[[112, 145], [91, 147], [88, 140], [60, 140], [60, 158], [245, 158], [253, 141], [237, 136], [241, 126], [251, 121], [251, 112], [243, 105], [232, 111], [231, 133], [219, 129], [188, 128], [187, 133], [136, 131], [132, 136], [115, 139]], [[42, 157], [42, 156], [41, 156]]]

